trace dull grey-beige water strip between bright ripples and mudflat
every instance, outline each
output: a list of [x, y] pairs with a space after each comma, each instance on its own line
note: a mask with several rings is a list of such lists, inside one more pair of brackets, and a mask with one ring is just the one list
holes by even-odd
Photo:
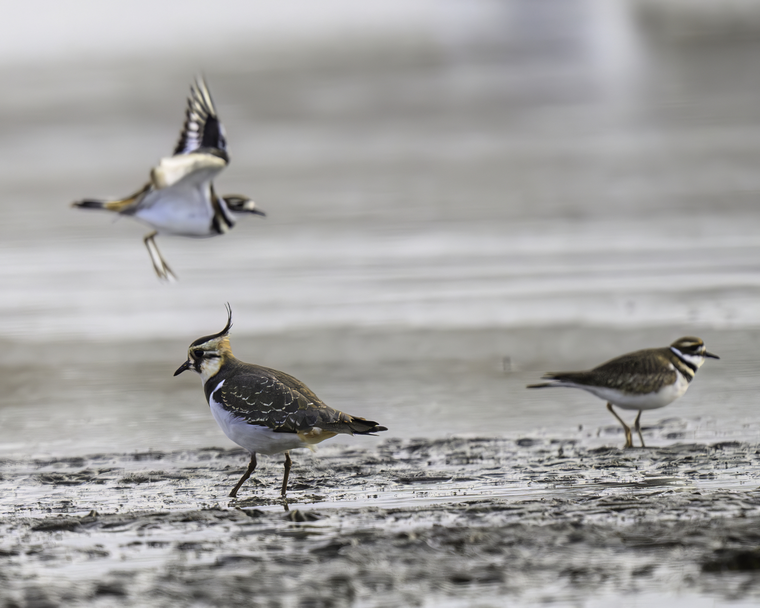
[[[592, 366], [688, 333], [689, 328], [638, 328], [635, 333], [346, 328], [233, 336], [232, 344], [240, 359], [285, 369], [331, 407], [389, 429], [378, 438], [346, 436], [328, 443], [365, 448], [388, 435], [412, 439], [485, 433], [600, 446], [624, 441], [603, 401], [584, 391], [528, 391], [525, 385], [548, 369]], [[708, 360], [679, 401], [644, 413], [644, 436], [652, 445], [758, 437], [758, 332], [701, 334], [722, 358]], [[179, 340], [153, 340], [148, 349], [136, 342], [57, 342], [44, 348], [7, 343], [0, 349], [8, 401], [0, 410], [0, 454], [232, 447], [211, 417], [198, 376], [172, 377], [185, 349]], [[622, 413], [632, 419], [630, 414]], [[670, 419], [678, 420], [678, 428], [657, 433], [658, 421]]]

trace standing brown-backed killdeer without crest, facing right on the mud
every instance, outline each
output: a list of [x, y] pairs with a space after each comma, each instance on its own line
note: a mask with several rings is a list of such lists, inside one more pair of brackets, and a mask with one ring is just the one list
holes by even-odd
[[623, 410], [638, 410], [635, 429], [644, 448], [641, 412], [665, 407], [686, 393], [706, 357], [720, 359], [708, 353], [705, 343], [698, 337], [687, 336], [679, 338], [670, 347], [637, 350], [587, 372], [549, 372], [543, 375], [549, 382], [528, 385], [527, 388], [569, 386], [582, 388], [604, 399], [607, 409], [625, 430], [625, 448], [633, 447], [633, 435], [631, 428], [613, 410], [613, 405]]

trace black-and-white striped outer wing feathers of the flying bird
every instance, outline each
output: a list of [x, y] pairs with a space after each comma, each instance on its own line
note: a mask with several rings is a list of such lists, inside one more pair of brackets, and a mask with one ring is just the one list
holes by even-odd
[[228, 160], [224, 127], [217, 117], [217, 109], [214, 108], [214, 100], [208, 92], [206, 81], [201, 77], [196, 78], [195, 84], [190, 87], [185, 124], [182, 125], [174, 154], [198, 151]]

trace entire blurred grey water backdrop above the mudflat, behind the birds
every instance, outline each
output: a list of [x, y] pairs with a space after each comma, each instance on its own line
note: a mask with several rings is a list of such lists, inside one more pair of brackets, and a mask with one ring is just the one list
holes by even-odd
[[[3, 9], [3, 453], [230, 445], [172, 377], [227, 301], [239, 358], [385, 435], [622, 444], [595, 397], [524, 385], [697, 334], [722, 359], [646, 436], [757, 439], [757, 3]], [[268, 217], [159, 237], [164, 285], [144, 226], [68, 204], [144, 183], [198, 73], [217, 191]]]

